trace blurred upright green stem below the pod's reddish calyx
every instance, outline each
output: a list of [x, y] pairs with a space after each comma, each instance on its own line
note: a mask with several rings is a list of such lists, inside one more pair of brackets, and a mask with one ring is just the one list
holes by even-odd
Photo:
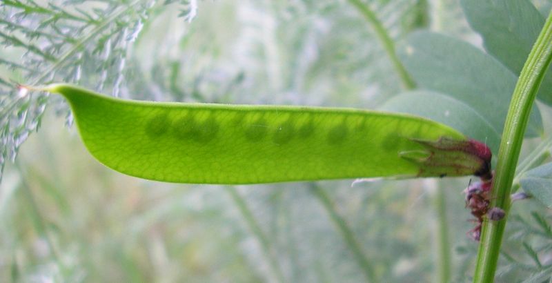
[[[431, 182], [437, 182], [431, 180]], [[449, 244], [449, 222], [446, 219], [446, 195], [438, 186], [435, 190], [435, 211], [437, 212], [437, 271], [439, 282], [451, 279], [451, 248]]]

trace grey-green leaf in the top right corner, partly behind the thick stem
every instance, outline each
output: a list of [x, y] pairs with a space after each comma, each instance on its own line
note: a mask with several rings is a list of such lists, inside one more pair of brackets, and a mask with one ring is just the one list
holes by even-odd
[[[542, 14], [527, 0], [462, 0], [462, 8], [485, 50], [520, 75], [544, 25]], [[552, 72], [544, 77], [538, 99], [552, 104]]]

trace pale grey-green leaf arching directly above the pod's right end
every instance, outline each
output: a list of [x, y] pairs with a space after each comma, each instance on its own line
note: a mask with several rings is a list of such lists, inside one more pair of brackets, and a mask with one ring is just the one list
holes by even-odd
[[419, 115], [460, 130], [464, 135], [483, 141], [497, 152], [500, 134], [489, 121], [464, 102], [428, 90], [404, 92], [386, 101], [382, 110]]

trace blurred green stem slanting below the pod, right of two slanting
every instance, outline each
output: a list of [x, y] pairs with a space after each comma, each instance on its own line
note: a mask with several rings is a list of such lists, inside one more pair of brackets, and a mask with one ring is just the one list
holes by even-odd
[[368, 257], [366, 257], [366, 255], [362, 251], [362, 246], [358, 242], [351, 228], [349, 228], [349, 226], [347, 225], [347, 222], [345, 222], [345, 219], [343, 219], [339, 215], [339, 213], [337, 213], [337, 209], [335, 209], [335, 205], [331, 201], [330, 197], [328, 197], [328, 195], [326, 195], [326, 192], [324, 192], [322, 188], [319, 188], [317, 184], [311, 184], [311, 191], [313, 192], [315, 197], [318, 198], [322, 206], [324, 206], [326, 212], [328, 212], [328, 216], [330, 217], [331, 221], [333, 222], [333, 224], [335, 224], [337, 230], [342, 234], [343, 239], [345, 240], [345, 243], [347, 244], [349, 250], [353, 253], [353, 255], [355, 256], [355, 260], [362, 268], [366, 280], [368, 280], [368, 282], [379, 282], [378, 280], [376, 280], [373, 267], [368, 262]]

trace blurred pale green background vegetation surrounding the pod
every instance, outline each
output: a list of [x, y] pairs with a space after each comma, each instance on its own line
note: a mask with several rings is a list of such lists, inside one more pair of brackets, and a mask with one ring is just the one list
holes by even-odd
[[[92, 159], [75, 128], [62, 126], [72, 117], [61, 99], [22, 97], [12, 84], [378, 108], [403, 88], [355, 3], [364, 2], [3, 1], [0, 281], [469, 281], [477, 250], [461, 193], [469, 178], [148, 182]], [[425, 28], [481, 46], [457, 1], [366, 3], [394, 42]], [[544, 15], [551, 8], [533, 3]], [[550, 109], [539, 107], [549, 133]], [[522, 159], [537, 143], [526, 143]], [[551, 211], [525, 201], [512, 213], [497, 282], [549, 280]]]

